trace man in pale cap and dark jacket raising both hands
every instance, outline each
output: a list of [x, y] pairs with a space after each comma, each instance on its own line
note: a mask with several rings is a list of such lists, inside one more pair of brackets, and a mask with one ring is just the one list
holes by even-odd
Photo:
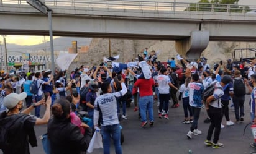
[[[0, 129], [5, 131], [6, 141], [2, 146], [3, 153], [20, 153], [29, 154], [29, 144], [31, 147], [37, 146], [37, 136], [35, 135], [34, 126], [39, 124], [47, 124], [50, 118], [50, 103], [49, 97], [45, 103], [45, 100], [40, 100], [37, 103], [29, 106], [29, 108], [21, 111], [23, 102], [27, 96], [27, 93], [22, 92], [20, 94], [10, 93], [4, 98], [4, 106], [8, 110], [0, 114]], [[30, 116], [29, 113], [35, 106], [46, 105], [46, 110], [43, 118], [35, 118]], [[1, 132], [4, 133], [4, 132]]]

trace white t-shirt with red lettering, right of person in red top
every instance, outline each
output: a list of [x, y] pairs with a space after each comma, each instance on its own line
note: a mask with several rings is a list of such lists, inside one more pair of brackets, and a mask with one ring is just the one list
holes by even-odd
[[158, 90], [160, 94], [170, 93], [169, 83], [171, 82], [171, 80], [167, 75], [163, 75], [163, 74], [158, 75], [156, 82], [158, 83]]

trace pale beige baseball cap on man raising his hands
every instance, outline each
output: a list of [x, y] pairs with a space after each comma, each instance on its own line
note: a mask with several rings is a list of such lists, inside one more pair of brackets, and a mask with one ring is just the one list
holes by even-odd
[[7, 109], [12, 109], [19, 103], [19, 101], [24, 100], [26, 97], [27, 93], [25, 92], [20, 94], [10, 93], [4, 98], [4, 106], [6, 106]]

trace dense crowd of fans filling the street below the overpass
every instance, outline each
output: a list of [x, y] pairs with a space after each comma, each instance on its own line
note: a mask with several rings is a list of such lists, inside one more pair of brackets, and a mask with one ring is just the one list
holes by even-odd
[[[109, 59], [110, 62], [103, 62], [99, 66], [76, 68], [69, 77], [66, 71], [58, 69], [55, 72], [20, 71], [17, 74], [1, 71], [0, 133], [7, 134], [6, 138], [0, 139], [2, 151], [29, 153], [29, 143], [32, 147], [37, 146], [34, 126], [48, 124], [52, 153], [86, 151], [92, 130], [100, 127], [104, 154], [110, 153], [110, 134], [119, 154], [122, 153], [119, 121], [129, 119], [127, 106], [134, 103], [134, 111], [139, 111], [142, 128], [148, 122], [153, 127], [154, 102], [157, 102], [158, 118], [167, 120], [169, 108], [179, 108], [182, 102], [184, 119], [181, 122], [191, 124], [186, 134], [188, 139], [202, 134], [198, 129], [198, 119], [201, 109], [206, 109], [208, 117], [204, 122], [211, 124], [204, 144], [222, 148], [224, 145], [219, 143], [221, 127], [224, 127], [222, 118], [225, 116], [226, 126], [234, 125], [229, 118], [229, 102], [232, 100], [235, 123], [244, 121], [246, 89], [251, 93], [251, 120], [256, 121], [256, 60], [235, 63], [227, 59], [227, 62], [220, 61], [211, 67], [204, 57], [191, 62], [178, 55], [176, 61], [173, 57], [165, 66], [157, 61], [157, 53], [152, 51], [149, 54], [147, 48], [137, 61], [129, 64], [114, 64], [116, 59]], [[179, 79], [176, 73], [178, 62], [181, 63], [185, 79], [181, 85], [183, 79]], [[214, 92], [204, 99], [203, 94], [208, 87], [213, 87]], [[170, 102], [173, 104], [169, 106]], [[40, 114], [42, 105], [45, 106], [43, 116]], [[24, 110], [23, 106], [26, 106]], [[93, 126], [83, 122], [79, 126], [72, 123], [73, 115], [79, 111], [88, 112]], [[4, 143], [2, 140], [5, 140]], [[251, 146], [256, 148], [256, 143]]]

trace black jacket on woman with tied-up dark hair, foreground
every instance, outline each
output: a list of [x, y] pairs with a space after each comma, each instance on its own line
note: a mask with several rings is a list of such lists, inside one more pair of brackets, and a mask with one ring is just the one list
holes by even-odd
[[70, 119], [51, 118], [48, 122], [48, 137], [52, 154], [79, 154], [86, 151], [91, 140], [91, 129], [82, 135], [79, 127]]

